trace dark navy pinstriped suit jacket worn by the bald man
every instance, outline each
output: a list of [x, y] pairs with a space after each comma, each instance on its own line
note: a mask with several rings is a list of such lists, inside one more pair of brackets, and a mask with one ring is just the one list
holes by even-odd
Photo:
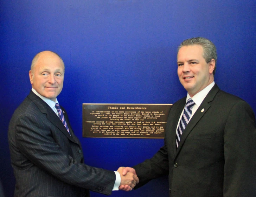
[[32, 91], [15, 110], [8, 130], [15, 197], [80, 197], [89, 196], [89, 190], [111, 193], [115, 172], [84, 164], [81, 144], [65, 109], [63, 113], [71, 136]]

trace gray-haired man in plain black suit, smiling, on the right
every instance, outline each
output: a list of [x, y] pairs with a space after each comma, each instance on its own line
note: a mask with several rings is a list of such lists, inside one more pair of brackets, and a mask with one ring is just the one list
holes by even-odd
[[[179, 46], [178, 77], [187, 96], [169, 111], [164, 146], [133, 167], [140, 179], [135, 189], [168, 174], [170, 197], [256, 196], [254, 112], [219, 89], [216, 62], [216, 47], [208, 39], [187, 39]], [[123, 175], [135, 173], [133, 168]]]

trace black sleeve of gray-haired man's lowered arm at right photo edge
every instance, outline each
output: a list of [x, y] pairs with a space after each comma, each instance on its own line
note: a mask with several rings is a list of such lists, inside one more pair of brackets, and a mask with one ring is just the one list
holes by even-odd
[[224, 197], [256, 195], [255, 116], [248, 103], [238, 101], [224, 129]]

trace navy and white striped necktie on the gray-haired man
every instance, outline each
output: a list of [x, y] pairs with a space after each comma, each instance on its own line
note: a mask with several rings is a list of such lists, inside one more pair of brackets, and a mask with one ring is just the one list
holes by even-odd
[[187, 103], [186, 103], [184, 111], [183, 111], [183, 115], [180, 119], [179, 127], [176, 132], [177, 148], [179, 147], [180, 137], [181, 137], [183, 131], [185, 130], [187, 123], [191, 117], [192, 107], [194, 106], [194, 104], [195, 104], [195, 102], [191, 98], [187, 100]]

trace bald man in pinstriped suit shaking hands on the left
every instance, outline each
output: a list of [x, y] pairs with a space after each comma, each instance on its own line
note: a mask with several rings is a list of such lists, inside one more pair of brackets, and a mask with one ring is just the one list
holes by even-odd
[[15, 197], [82, 197], [89, 190], [110, 195], [119, 185], [131, 190], [139, 181], [84, 164], [81, 143], [59, 105], [64, 63], [51, 51], [38, 53], [29, 71], [32, 90], [15, 110], [8, 140], [16, 178]]

